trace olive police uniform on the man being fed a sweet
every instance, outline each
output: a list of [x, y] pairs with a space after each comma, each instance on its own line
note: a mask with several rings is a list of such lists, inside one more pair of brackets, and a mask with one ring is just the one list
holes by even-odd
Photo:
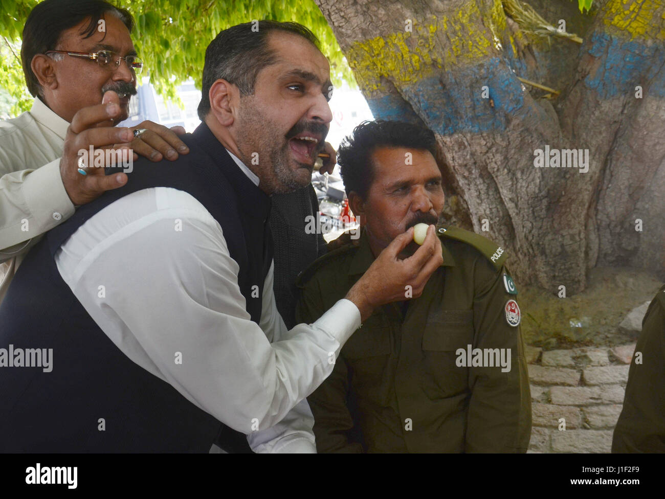
[[[308, 397], [319, 452], [527, 450], [531, 394], [506, 254], [456, 227], [437, 234], [444, 263], [422, 296], [374, 310]], [[319, 318], [373, 260], [364, 234], [319, 258], [299, 277], [298, 320]]]

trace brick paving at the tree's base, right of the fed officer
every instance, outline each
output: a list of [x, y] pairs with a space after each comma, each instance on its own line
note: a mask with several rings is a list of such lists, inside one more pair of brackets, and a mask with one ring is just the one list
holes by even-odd
[[610, 452], [634, 349], [635, 344], [551, 351], [527, 346], [529, 452]]

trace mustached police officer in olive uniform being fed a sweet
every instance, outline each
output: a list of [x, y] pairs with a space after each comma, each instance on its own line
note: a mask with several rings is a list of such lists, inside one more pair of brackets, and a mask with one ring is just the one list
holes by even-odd
[[[313, 322], [400, 233], [436, 224], [444, 207], [434, 134], [364, 122], [338, 157], [359, 245], [323, 256], [299, 278], [297, 314]], [[430, 231], [435, 227], [430, 227]], [[319, 452], [525, 452], [531, 396], [517, 290], [505, 251], [436, 227], [444, 263], [422, 296], [377, 308], [309, 398]], [[400, 257], [418, 246], [412, 243]]]

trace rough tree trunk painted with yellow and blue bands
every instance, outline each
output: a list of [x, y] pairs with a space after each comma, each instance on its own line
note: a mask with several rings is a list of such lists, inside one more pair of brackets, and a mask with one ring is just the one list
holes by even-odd
[[[458, 219], [489, 223], [521, 282], [573, 294], [597, 264], [664, 271], [662, 1], [597, 0], [582, 19], [577, 2], [535, 0], [583, 31], [556, 50], [529, 43], [500, 0], [315, 1], [375, 118], [435, 132]], [[545, 146], [589, 150], [588, 171], [535, 167]]]

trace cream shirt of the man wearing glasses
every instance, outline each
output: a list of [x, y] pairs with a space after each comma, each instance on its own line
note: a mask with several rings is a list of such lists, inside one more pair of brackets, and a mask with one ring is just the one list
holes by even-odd
[[60, 176], [68, 126], [39, 98], [0, 122], [0, 302], [28, 250], [74, 214]]

